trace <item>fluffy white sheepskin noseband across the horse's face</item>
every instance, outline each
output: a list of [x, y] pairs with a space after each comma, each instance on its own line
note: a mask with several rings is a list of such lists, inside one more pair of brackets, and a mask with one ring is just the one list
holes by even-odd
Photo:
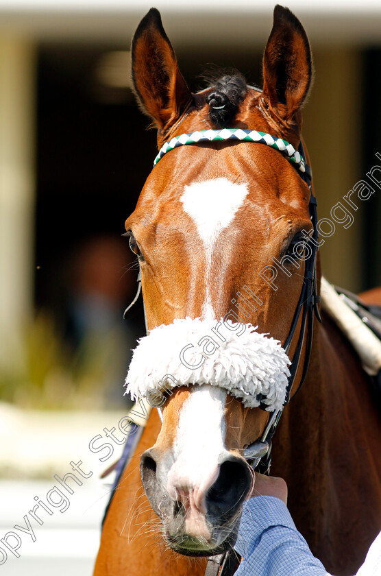
[[[191, 320], [153, 328], [138, 341], [125, 385], [136, 400], [152, 390], [210, 384], [225, 388], [245, 407], [282, 408], [291, 361], [280, 341], [251, 324]], [[165, 376], [165, 377], [164, 377]], [[259, 395], [259, 396], [258, 396]]]

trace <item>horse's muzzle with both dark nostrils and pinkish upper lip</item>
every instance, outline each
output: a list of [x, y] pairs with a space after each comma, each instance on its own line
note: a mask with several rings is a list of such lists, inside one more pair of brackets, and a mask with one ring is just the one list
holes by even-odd
[[150, 448], [140, 459], [145, 494], [164, 526], [169, 546], [188, 556], [208, 556], [230, 549], [235, 541], [243, 501], [251, 489], [251, 472], [245, 460], [230, 454], [199, 486], [169, 485], [160, 477], [163, 464]]

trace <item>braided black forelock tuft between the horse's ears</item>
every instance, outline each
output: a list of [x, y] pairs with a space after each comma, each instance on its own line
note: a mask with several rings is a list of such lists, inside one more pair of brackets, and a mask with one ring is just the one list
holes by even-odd
[[240, 73], [220, 77], [206, 98], [209, 105], [209, 118], [212, 123], [217, 128], [225, 128], [236, 115], [238, 106], [246, 94], [246, 80]]

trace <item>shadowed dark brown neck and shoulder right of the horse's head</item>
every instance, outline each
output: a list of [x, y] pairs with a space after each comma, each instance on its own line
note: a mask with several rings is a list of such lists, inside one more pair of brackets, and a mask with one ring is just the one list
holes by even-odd
[[[381, 508], [380, 443], [381, 423], [369, 376], [336, 325], [323, 315], [323, 324], [315, 326], [306, 381], [284, 410], [274, 438], [271, 473], [286, 479], [295, 523], [312, 551], [325, 555], [328, 570], [326, 549], [355, 518], [364, 518], [369, 501], [374, 508], [367, 514], [369, 525], [378, 523], [370, 517]], [[367, 533], [365, 526], [358, 529]]]

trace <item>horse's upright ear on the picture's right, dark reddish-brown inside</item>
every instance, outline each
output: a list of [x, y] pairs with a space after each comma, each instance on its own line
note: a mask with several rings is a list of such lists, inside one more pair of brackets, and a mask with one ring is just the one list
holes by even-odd
[[298, 121], [297, 112], [306, 99], [311, 78], [311, 51], [304, 27], [288, 8], [276, 5], [263, 56], [266, 106], [286, 122]]

